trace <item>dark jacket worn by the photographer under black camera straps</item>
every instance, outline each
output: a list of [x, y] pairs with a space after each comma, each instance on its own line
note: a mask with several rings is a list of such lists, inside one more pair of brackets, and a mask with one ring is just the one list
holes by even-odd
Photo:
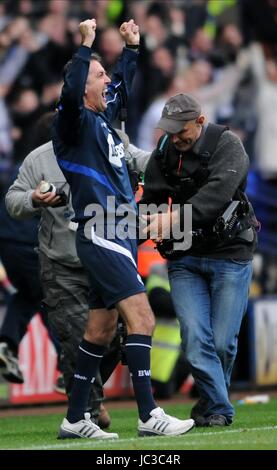
[[[203, 152], [203, 139], [206, 127], [203, 128], [200, 138], [192, 148], [192, 151], [182, 154], [183, 178], [190, 177], [200, 166]], [[167, 149], [170, 158], [166, 159], [167, 171], [162, 168], [161, 159], [157, 158], [154, 151], [145, 172], [144, 195], [141, 203], [155, 203], [160, 205], [168, 202], [168, 197], [173, 203], [179, 203], [172, 186], [172, 176], [176, 177], [180, 152], [173, 144]], [[192, 205], [192, 228], [211, 227], [216, 218], [222, 213], [226, 205], [232, 200], [236, 190], [245, 186], [249, 167], [249, 159], [240, 139], [231, 131], [225, 131], [218, 140], [215, 151], [208, 161], [209, 175], [197, 189], [195, 194], [183, 203]], [[168, 174], [168, 176], [166, 176]], [[184, 251], [183, 255], [207, 256], [215, 258], [251, 259], [256, 237], [253, 242], [245, 242], [233, 239], [223, 246], [205, 248], [204, 250], [191, 248]]]

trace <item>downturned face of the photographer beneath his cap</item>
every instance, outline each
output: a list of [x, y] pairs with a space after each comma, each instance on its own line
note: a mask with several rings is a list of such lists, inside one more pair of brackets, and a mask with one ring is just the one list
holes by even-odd
[[200, 116], [193, 121], [187, 121], [183, 129], [177, 134], [169, 134], [170, 141], [174, 144], [180, 152], [187, 152], [193, 147], [195, 142], [199, 139], [204, 116]]

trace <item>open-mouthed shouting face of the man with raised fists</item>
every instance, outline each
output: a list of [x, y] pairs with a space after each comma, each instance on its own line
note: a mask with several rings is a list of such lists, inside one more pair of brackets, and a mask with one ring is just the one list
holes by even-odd
[[97, 60], [92, 60], [85, 91], [85, 106], [93, 111], [103, 112], [107, 108], [106, 93], [111, 79]]

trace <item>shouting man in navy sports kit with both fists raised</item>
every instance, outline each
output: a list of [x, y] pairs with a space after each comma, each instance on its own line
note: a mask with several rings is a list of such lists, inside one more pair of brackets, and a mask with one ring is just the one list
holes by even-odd
[[[137, 272], [136, 239], [124, 236], [121, 230], [124, 209], [135, 216], [136, 205], [123, 143], [110, 124], [129, 94], [136, 69], [139, 29], [133, 20], [120, 27], [126, 47], [112, 82], [98, 56], [91, 54], [95, 30], [94, 19], [80, 24], [82, 45], [67, 67], [53, 133], [57, 161], [70, 185], [75, 220], [79, 223], [77, 252], [91, 280], [91, 310], [59, 437], [118, 437], [101, 431], [85, 413], [91, 384], [115, 334], [115, 307], [127, 325], [126, 356], [139, 410], [139, 435], [179, 435], [191, 429], [194, 421], [166, 415], [152, 396], [150, 349], [154, 316]], [[90, 219], [99, 208], [103, 217], [97, 219], [95, 230]], [[111, 232], [113, 237], [109, 236]]]

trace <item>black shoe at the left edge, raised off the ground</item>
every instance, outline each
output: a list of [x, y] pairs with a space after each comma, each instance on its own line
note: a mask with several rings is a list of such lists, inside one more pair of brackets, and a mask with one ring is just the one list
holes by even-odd
[[18, 357], [7, 343], [0, 343], [0, 371], [11, 383], [23, 384], [24, 378], [18, 364]]

